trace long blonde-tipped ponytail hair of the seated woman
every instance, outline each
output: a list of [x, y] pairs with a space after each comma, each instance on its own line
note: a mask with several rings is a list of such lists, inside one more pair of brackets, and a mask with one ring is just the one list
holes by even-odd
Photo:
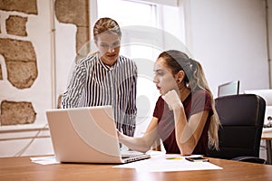
[[215, 109], [213, 95], [209, 90], [208, 81], [205, 78], [201, 64], [190, 59], [186, 53], [176, 50], [161, 52], [159, 58], [165, 60], [166, 65], [170, 68], [173, 75], [179, 71], [185, 72], [184, 83], [192, 92], [201, 89], [206, 90], [209, 93], [213, 110], [213, 115], [211, 116], [209, 123], [209, 148], [213, 147], [219, 149], [219, 116]]

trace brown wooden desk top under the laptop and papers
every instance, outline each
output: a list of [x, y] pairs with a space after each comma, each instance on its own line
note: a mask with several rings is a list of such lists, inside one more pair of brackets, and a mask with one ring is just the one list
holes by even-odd
[[271, 181], [272, 166], [210, 158], [220, 170], [137, 173], [134, 169], [101, 164], [38, 165], [29, 157], [0, 158], [0, 180], [201, 180]]

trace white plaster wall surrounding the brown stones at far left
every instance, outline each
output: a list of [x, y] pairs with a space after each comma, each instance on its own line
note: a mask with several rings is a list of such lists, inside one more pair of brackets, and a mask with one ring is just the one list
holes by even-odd
[[38, 14], [0, 12], [1, 27], [10, 14], [27, 16], [27, 36], [7, 34], [2, 28], [1, 38], [30, 41], [37, 58], [38, 77], [30, 89], [19, 90], [7, 81], [5, 60], [0, 56], [4, 81], [0, 82], [0, 100], [31, 101], [36, 111], [34, 124], [0, 127], [0, 157], [53, 154], [50, 134], [46, 127], [45, 110], [53, 108], [52, 39], [50, 1], [38, 0]]

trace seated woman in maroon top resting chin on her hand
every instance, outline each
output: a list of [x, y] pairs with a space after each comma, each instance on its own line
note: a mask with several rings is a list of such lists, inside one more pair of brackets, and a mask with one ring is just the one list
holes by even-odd
[[121, 143], [146, 152], [160, 138], [167, 153], [206, 155], [219, 148], [219, 117], [199, 62], [179, 51], [162, 52], [154, 65], [160, 90], [153, 118], [141, 138], [118, 132]]

